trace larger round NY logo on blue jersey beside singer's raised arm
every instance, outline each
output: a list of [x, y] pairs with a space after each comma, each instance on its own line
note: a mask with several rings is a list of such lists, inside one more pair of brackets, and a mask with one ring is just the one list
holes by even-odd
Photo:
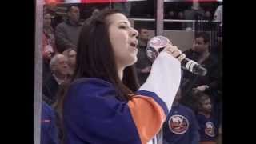
[[174, 134], [184, 134], [189, 127], [189, 121], [182, 115], [173, 115], [170, 117], [169, 129]]

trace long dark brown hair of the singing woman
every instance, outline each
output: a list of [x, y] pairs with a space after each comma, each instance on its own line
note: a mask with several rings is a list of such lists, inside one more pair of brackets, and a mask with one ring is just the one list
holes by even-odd
[[[106, 17], [121, 13], [119, 10], [102, 10], [89, 24], [82, 27], [78, 39], [76, 78], [101, 78], [111, 82], [117, 90], [118, 99], [129, 100], [132, 91], [138, 89], [138, 80], [134, 66], [126, 67], [124, 78], [120, 80], [114, 60], [114, 51], [110, 43]], [[129, 80], [129, 81], [128, 81]], [[124, 85], [124, 83], [126, 85]]]

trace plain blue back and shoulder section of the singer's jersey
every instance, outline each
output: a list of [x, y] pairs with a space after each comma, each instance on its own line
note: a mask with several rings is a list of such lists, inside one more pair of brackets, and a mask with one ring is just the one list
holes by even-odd
[[64, 103], [67, 143], [141, 144], [127, 102], [106, 82], [71, 86]]

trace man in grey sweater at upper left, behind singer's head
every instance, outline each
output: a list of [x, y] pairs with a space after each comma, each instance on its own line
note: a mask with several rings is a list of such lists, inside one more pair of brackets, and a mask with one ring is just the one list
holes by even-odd
[[80, 10], [78, 6], [68, 7], [67, 16], [67, 21], [58, 24], [55, 30], [57, 50], [59, 53], [62, 53], [68, 48], [76, 49], [79, 33], [82, 28], [82, 24], [79, 22]]

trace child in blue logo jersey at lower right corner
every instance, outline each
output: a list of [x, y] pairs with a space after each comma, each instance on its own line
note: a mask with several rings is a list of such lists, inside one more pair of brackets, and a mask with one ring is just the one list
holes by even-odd
[[210, 97], [202, 92], [196, 93], [198, 98], [198, 124], [200, 126], [200, 144], [216, 144], [218, 137], [218, 118], [214, 117]]

